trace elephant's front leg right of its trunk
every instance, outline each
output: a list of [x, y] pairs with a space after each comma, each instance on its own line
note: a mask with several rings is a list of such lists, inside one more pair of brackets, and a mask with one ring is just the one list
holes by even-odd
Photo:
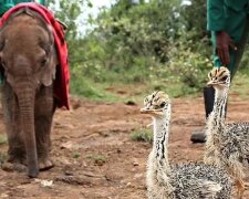
[[54, 114], [54, 100], [52, 86], [42, 86], [35, 96], [34, 125], [38, 147], [39, 169], [46, 170], [54, 165], [50, 159], [51, 126]]

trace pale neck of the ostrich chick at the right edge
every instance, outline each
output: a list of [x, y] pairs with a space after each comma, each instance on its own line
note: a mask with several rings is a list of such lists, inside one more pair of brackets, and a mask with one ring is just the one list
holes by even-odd
[[[228, 88], [216, 88], [214, 111], [208, 117], [208, 133], [212, 134], [212, 138], [219, 140], [225, 132], [225, 115]], [[216, 143], [216, 142], [215, 142]]]

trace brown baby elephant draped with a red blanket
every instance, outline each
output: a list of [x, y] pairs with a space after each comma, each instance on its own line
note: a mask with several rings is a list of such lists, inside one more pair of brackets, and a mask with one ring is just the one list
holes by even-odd
[[50, 132], [56, 107], [58, 55], [52, 29], [27, 8], [10, 15], [0, 30], [2, 107], [8, 161], [28, 167], [28, 176], [53, 167]]

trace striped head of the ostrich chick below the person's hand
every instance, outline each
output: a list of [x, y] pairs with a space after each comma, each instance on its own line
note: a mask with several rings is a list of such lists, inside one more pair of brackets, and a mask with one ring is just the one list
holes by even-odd
[[227, 67], [214, 67], [208, 73], [208, 86], [212, 86], [215, 88], [228, 88], [230, 86], [230, 72]]

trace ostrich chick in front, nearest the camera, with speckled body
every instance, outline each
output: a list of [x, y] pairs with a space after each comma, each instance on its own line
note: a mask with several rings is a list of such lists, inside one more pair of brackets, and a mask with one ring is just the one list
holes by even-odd
[[224, 170], [204, 163], [168, 161], [170, 101], [164, 92], [144, 100], [143, 114], [153, 117], [154, 143], [147, 160], [146, 186], [149, 199], [229, 199], [231, 182]]

